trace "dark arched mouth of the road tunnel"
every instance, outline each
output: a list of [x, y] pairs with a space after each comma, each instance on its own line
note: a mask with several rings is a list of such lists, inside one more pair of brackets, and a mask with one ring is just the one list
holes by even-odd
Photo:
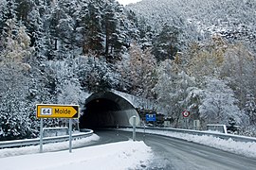
[[138, 116], [136, 108], [119, 94], [93, 93], [85, 100], [80, 128], [129, 127], [130, 117]]

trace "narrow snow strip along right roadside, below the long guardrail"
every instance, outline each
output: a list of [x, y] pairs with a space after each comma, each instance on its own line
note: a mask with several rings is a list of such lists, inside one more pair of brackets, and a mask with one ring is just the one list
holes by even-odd
[[[121, 130], [132, 131], [131, 128], [120, 128]], [[144, 132], [144, 129], [138, 129], [138, 132]], [[245, 143], [245, 142], [235, 142], [229, 138], [229, 140], [220, 139], [208, 135], [192, 135], [187, 133], [178, 133], [173, 131], [161, 131], [146, 129], [147, 133], [160, 134], [164, 136], [170, 136], [178, 139], [183, 139], [193, 143], [204, 144], [221, 150], [229, 151], [238, 155], [243, 155], [249, 158], [256, 158], [256, 143]]]

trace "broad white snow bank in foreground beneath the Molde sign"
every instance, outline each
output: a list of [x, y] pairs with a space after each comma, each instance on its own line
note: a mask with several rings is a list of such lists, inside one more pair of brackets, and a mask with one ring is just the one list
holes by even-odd
[[[97, 140], [97, 135], [93, 138]], [[20, 148], [11, 149], [16, 153], [13, 155], [19, 155], [19, 152], [24, 153], [26, 150], [29, 154], [0, 158], [1, 170], [138, 169], [147, 166], [153, 158], [149, 146], [143, 142], [133, 141], [82, 147], [73, 149], [72, 153], [69, 153], [67, 143], [45, 144], [44, 150], [55, 150], [59, 145], [63, 145], [62, 148], [67, 150], [38, 153], [39, 146], [24, 147], [22, 151], [18, 151]], [[76, 142], [73, 145], [76, 145]], [[1, 149], [1, 157], [5, 156], [4, 150], [9, 149]]]

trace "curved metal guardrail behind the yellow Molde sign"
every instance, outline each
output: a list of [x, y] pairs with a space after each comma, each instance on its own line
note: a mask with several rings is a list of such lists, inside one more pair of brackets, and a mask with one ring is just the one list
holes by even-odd
[[[93, 134], [93, 130], [82, 129], [80, 133], [72, 134], [72, 140], [79, 140], [79, 139], [91, 136], [92, 134]], [[69, 135], [46, 137], [43, 139], [43, 144], [59, 143], [59, 142], [64, 142], [68, 140], [69, 140]], [[21, 147], [21, 146], [37, 145], [37, 144], [40, 144], [40, 138], [15, 140], [15, 141], [2, 141], [0, 142], [0, 148]]]

